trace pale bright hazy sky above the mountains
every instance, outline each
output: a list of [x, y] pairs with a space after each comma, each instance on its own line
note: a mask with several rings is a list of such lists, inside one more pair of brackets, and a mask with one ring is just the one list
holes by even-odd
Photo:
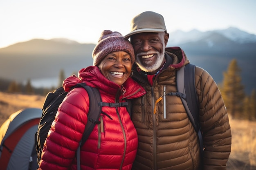
[[256, 34], [256, 0], [0, 0], [0, 48], [34, 38], [96, 44], [104, 29], [128, 33], [144, 11], [162, 14], [168, 32], [234, 26]]

